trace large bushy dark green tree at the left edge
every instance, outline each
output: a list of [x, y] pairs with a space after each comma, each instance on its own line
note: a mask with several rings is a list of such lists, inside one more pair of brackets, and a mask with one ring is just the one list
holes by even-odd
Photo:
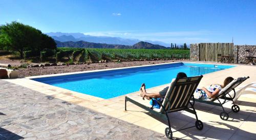
[[45, 48], [56, 49], [56, 43], [51, 37], [16, 21], [0, 27], [0, 40], [4, 40], [4, 43], [0, 43], [1, 48], [19, 52], [20, 58], [24, 57], [24, 51], [34, 51], [39, 54]]

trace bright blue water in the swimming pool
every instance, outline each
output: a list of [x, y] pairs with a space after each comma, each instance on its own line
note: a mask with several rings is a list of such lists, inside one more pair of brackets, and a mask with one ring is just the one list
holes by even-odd
[[204, 75], [231, 67], [233, 66], [179, 62], [93, 73], [36, 78], [33, 80], [103, 99], [110, 99], [138, 91], [142, 83], [145, 83], [146, 88], [167, 84], [172, 81], [179, 72], [184, 72], [190, 77]]

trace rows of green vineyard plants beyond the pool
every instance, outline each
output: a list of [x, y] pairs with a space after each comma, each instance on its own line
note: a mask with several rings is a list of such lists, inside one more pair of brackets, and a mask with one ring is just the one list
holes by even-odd
[[[79, 49], [79, 48], [58, 48], [56, 51], [57, 59], [74, 55], [84, 57], [84, 60], [156, 60], [156, 59], [189, 59], [189, 50], [164, 49]], [[79, 52], [81, 53], [79, 55]], [[76, 60], [82, 60], [76, 58]]]

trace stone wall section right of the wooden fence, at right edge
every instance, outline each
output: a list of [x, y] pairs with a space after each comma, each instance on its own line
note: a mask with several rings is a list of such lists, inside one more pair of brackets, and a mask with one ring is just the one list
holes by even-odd
[[238, 63], [245, 63], [249, 55], [256, 57], [256, 45], [238, 45]]

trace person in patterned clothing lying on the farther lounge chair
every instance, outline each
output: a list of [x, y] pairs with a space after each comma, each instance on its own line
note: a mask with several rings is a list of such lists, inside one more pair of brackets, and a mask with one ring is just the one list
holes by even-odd
[[215, 98], [216, 96], [218, 96], [221, 89], [224, 88], [226, 85], [228, 85], [233, 80], [234, 79], [232, 77], [227, 77], [224, 80], [223, 85], [221, 85], [221, 84], [212, 84], [212, 85], [210, 85], [206, 88], [205, 87], [197, 88], [196, 91], [195, 91], [194, 96], [195, 96], [196, 99], [201, 99], [201, 100]]

